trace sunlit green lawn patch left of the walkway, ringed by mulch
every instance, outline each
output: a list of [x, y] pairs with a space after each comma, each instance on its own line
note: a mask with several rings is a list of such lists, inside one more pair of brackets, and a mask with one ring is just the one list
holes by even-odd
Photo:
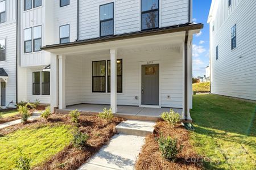
[[71, 139], [71, 126], [67, 125], [23, 129], [0, 137], [0, 169], [15, 168], [19, 158], [17, 147], [32, 159], [34, 166], [63, 150]]

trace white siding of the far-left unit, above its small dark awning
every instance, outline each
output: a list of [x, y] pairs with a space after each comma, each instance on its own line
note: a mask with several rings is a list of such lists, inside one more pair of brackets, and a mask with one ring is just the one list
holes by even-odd
[[0, 67], [5, 69], [9, 76], [6, 83], [6, 105], [13, 101], [10, 107], [14, 107], [16, 103], [16, 22], [0, 24], [0, 40], [2, 39], [6, 40], [6, 61], [0, 61]]

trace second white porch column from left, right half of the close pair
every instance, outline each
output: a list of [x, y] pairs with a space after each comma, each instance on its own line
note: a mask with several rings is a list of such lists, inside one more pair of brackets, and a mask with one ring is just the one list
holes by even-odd
[[59, 109], [66, 108], [65, 101], [65, 56], [59, 56]]

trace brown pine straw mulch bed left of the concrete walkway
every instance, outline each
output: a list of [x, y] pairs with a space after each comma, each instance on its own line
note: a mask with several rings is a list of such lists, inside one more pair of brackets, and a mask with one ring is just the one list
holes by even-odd
[[[124, 121], [123, 118], [113, 118], [107, 122], [97, 116], [86, 116], [81, 114], [79, 117], [78, 127], [83, 133], [88, 133], [90, 138], [88, 146], [84, 150], [79, 150], [70, 143], [62, 151], [53, 155], [46, 162], [40, 163], [32, 169], [77, 169], [86, 162], [100, 148], [105, 145], [115, 134], [115, 126]], [[40, 128], [42, 126], [55, 125], [74, 125], [67, 114], [51, 114], [48, 121], [43, 118], [28, 121], [27, 124], [17, 124], [0, 129], [0, 136], [12, 133], [24, 128]]]

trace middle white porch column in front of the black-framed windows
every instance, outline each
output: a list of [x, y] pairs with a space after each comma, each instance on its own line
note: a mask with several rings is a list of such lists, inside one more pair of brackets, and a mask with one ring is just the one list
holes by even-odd
[[110, 49], [110, 107], [117, 113], [117, 49]]

